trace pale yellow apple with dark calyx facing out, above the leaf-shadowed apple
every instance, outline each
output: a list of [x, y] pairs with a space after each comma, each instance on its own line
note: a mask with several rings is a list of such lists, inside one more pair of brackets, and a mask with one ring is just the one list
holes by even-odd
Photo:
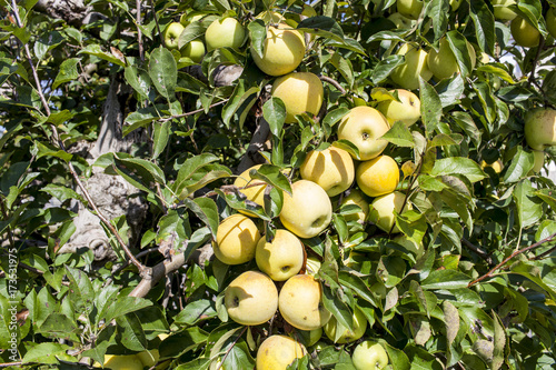
[[349, 140], [359, 149], [363, 161], [378, 157], [388, 141], [380, 137], [390, 129], [386, 117], [378, 110], [367, 106], [353, 108], [341, 119], [338, 127], [338, 139]]

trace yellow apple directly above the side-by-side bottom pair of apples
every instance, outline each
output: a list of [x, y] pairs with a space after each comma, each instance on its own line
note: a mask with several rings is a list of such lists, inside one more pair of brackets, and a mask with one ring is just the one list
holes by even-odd
[[268, 242], [260, 238], [255, 260], [260, 271], [275, 281], [285, 281], [297, 274], [304, 266], [304, 244], [291, 232], [276, 230], [275, 238]]

